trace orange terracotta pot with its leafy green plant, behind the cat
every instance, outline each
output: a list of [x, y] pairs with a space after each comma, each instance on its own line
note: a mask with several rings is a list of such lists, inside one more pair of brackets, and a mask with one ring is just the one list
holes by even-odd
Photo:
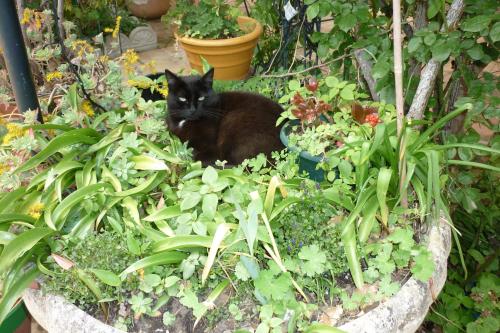
[[262, 26], [240, 16], [224, 0], [177, 1], [162, 20], [174, 24], [177, 38], [193, 69], [202, 72], [202, 58], [215, 68], [217, 80], [247, 77]]

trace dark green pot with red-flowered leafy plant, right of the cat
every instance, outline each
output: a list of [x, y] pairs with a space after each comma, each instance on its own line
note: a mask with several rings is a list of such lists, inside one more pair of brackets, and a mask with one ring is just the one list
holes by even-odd
[[[347, 150], [345, 156], [349, 159], [351, 144], [370, 140], [378, 123], [394, 119], [393, 106], [360, 101], [366, 97], [357, 92], [355, 84], [335, 76], [308, 78], [303, 84], [298, 80], [288, 83], [288, 93], [280, 99], [285, 112], [278, 124], [286, 121], [280, 138], [288, 150], [299, 154], [301, 171], [311, 179], [324, 180], [322, 165], [328, 163], [329, 156]], [[348, 161], [341, 163], [346, 165]], [[328, 179], [333, 181], [336, 176], [331, 172]]]

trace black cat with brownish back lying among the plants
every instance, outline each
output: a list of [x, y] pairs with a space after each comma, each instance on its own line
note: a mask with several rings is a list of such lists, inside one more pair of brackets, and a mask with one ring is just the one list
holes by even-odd
[[168, 70], [165, 74], [168, 128], [181, 141], [188, 141], [195, 159], [205, 165], [216, 160], [234, 165], [284, 148], [276, 127], [283, 112], [278, 103], [247, 92], [216, 93], [213, 69], [203, 77], [180, 77]]

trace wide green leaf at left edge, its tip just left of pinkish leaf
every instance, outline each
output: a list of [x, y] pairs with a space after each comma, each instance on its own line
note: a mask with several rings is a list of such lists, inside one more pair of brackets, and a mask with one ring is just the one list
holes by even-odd
[[27, 251], [31, 250], [40, 240], [52, 234], [54, 230], [48, 228], [33, 228], [19, 234], [9, 242], [0, 255], [0, 275]]

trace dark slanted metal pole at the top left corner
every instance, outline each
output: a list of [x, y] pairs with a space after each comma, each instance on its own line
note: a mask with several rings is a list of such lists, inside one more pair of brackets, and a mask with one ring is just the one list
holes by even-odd
[[[0, 48], [20, 112], [40, 110], [15, 0], [0, 0]], [[38, 112], [38, 120], [42, 114]]]

